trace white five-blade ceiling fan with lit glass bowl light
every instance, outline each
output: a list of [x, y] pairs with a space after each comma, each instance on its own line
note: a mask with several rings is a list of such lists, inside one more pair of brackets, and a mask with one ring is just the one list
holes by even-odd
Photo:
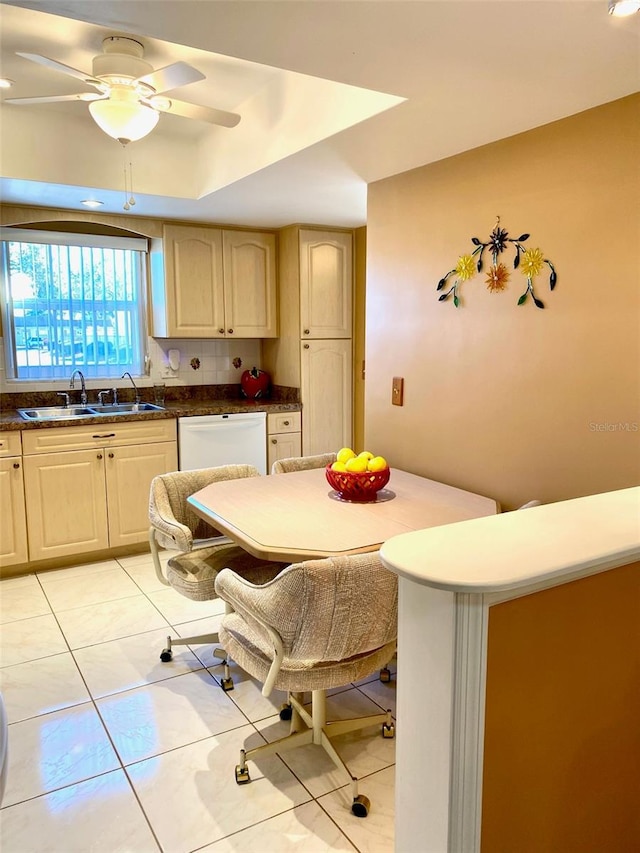
[[102, 50], [100, 55], [93, 58], [93, 74], [37, 53], [19, 52], [18, 56], [82, 80], [96, 91], [38, 98], [6, 98], [4, 102], [46, 104], [54, 101], [88, 101], [89, 112], [96, 124], [122, 145], [151, 133], [161, 113], [223, 127], [235, 127], [240, 121], [237, 113], [164, 97], [164, 92], [205, 79], [204, 74], [186, 62], [174, 62], [154, 71], [153, 66], [143, 58], [144, 46], [125, 36], [108, 36], [102, 42]]

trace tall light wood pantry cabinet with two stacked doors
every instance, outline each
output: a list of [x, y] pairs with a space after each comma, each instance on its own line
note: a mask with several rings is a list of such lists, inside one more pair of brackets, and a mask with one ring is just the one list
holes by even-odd
[[280, 337], [263, 342], [274, 383], [300, 388], [302, 453], [352, 442], [353, 233], [280, 232]]

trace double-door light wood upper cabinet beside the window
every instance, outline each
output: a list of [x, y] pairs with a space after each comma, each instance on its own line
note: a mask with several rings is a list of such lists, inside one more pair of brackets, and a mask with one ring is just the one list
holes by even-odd
[[275, 337], [275, 234], [165, 225], [151, 247], [151, 316], [160, 338]]

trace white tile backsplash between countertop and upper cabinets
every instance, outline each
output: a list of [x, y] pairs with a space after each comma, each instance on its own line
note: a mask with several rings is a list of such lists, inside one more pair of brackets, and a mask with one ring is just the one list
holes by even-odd
[[[3, 340], [0, 338], [0, 392], [66, 390], [67, 381], [14, 382], [7, 379]], [[262, 345], [260, 340], [168, 340], [149, 338], [150, 372], [148, 376], [136, 378], [136, 384], [144, 388], [154, 382], [167, 386], [186, 385], [239, 385], [244, 370], [261, 366]], [[177, 369], [169, 366], [169, 350], [179, 353]], [[236, 366], [237, 365], [237, 366]], [[71, 374], [71, 371], [69, 371]], [[119, 379], [118, 385], [126, 385]], [[87, 379], [87, 388], [104, 388], [113, 384], [111, 380]]]

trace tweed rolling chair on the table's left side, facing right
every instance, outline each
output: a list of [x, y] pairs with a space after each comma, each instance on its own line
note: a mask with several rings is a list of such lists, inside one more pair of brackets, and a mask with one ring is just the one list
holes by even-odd
[[[156, 575], [165, 586], [173, 587], [192, 601], [209, 601], [218, 597], [215, 579], [224, 568], [255, 584], [262, 584], [274, 578], [286, 565], [253, 557], [199, 518], [187, 503], [189, 495], [211, 483], [259, 476], [260, 472], [252, 465], [223, 465], [154, 477], [149, 494], [149, 545]], [[169, 559], [166, 574], [160, 562], [160, 547], [178, 552]], [[168, 636], [160, 660], [165, 663], [171, 660], [173, 646], [217, 642], [216, 633], [182, 638]], [[224, 649], [216, 649], [213, 654], [225, 667], [223, 689], [232, 690], [233, 681]]]

